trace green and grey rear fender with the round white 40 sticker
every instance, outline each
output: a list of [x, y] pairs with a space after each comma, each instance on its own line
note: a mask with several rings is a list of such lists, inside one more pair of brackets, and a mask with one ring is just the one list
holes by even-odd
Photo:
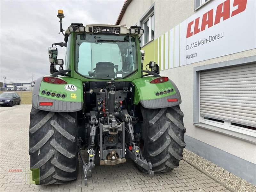
[[[32, 106], [34, 108], [52, 112], [74, 112], [83, 108], [82, 81], [71, 77], [57, 77], [66, 81], [67, 84], [53, 84], [44, 82], [44, 77], [49, 77], [49, 75], [38, 78], [34, 86], [32, 95]], [[50, 95], [47, 95], [47, 92], [50, 92]], [[57, 97], [58, 93], [60, 97]], [[62, 97], [62, 95], [65, 95], [65, 97]], [[43, 106], [40, 105], [40, 102], [52, 102], [52, 106]]]

